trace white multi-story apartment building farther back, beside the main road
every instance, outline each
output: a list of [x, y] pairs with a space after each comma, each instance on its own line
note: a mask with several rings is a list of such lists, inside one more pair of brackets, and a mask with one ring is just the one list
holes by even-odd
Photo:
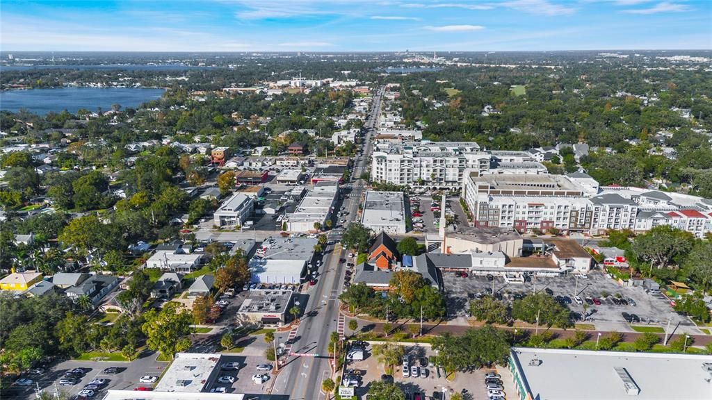
[[372, 155], [371, 179], [377, 182], [459, 189], [466, 169], [486, 172], [491, 154], [475, 142], [384, 143]]

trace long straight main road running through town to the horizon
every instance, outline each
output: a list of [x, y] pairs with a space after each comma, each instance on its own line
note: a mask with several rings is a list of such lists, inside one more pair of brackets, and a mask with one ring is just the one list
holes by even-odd
[[[353, 184], [350, 196], [345, 196], [342, 206], [348, 211], [346, 224], [354, 221], [363, 194], [360, 176], [367, 170], [368, 158], [372, 151], [371, 138], [378, 120], [384, 88], [379, 88], [373, 106], [367, 117], [363, 156], [357, 161], [352, 173]], [[339, 310], [338, 295], [341, 293], [344, 278], [344, 265], [340, 258], [345, 258], [347, 249], [341, 247], [340, 233], [330, 233], [329, 246], [324, 257], [324, 268], [318, 282], [310, 289], [309, 300], [303, 312], [303, 319], [293, 340], [292, 352], [319, 354], [319, 357], [289, 357], [288, 362], [278, 375], [273, 394], [290, 394], [290, 399], [313, 400], [324, 397], [320, 392], [321, 382], [332, 376], [328, 357], [328, 344], [331, 332], [337, 331]], [[281, 338], [286, 340], [286, 338]]]

